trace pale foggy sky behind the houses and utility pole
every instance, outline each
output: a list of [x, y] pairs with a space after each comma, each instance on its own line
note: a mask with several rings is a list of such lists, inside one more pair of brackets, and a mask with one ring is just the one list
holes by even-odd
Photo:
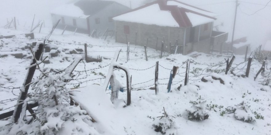
[[[46, 27], [52, 27], [50, 11], [62, 4], [74, 2], [75, 0], [0, 0], [0, 26], [6, 25], [7, 18], [16, 17], [20, 26], [30, 27], [33, 16], [36, 14], [35, 23], [39, 20], [45, 21]], [[119, 2], [125, 6], [136, 8], [153, 0], [111, 0]], [[231, 41], [233, 31], [233, 19], [235, 12], [235, 1], [233, 0], [181, 0], [197, 6], [199, 8], [214, 12], [217, 14], [217, 20], [214, 23], [214, 30], [229, 33], [228, 41]], [[251, 3], [262, 5], [256, 5]], [[248, 42], [252, 47], [265, 44], [267, 40], [271, 40], [271, 2], [263, 10], [269, 0], [243, 0], [237, 9], [237, 21], [235, 39], [248, 37]], [[67, 9], [68, 10], [68, 9]], [[165, 21], [162, 20], [161, 21]]]

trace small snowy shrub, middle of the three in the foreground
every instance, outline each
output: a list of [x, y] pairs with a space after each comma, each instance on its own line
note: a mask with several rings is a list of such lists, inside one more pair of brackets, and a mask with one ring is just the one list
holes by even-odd
[[205, 102], [206, 100], [202, 99], [201, 97], [196, 101], [189, 102], [192, 104], [191, 108], [186, 109], [189, 120], [202, 121], [209, 118], [209, 114], [205, 108]]

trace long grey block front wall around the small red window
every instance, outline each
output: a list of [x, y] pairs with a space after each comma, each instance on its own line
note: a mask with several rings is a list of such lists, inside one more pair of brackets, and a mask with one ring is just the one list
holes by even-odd
[[[130, 34], [124, 34], [124, 25], [129, 26]], [[130, 42], [130, 44], [144, 46], [147, 45], [148, 41], [148, 47], [156, 49], [157, 44], [157, 49], [161, 50], [162, 41], [165, 40], [164, 51], [167, 52], [170, 50], [169, 42], [174, 45], [176, 44], [176, 39], [178, 39], [178, 45], [182, 45], [184, 39], [184, 28], [179, 27], [164, 27], [125, 21], [115, 21], [115, 29], [117, 30], [116, 42], [125, 44]]]

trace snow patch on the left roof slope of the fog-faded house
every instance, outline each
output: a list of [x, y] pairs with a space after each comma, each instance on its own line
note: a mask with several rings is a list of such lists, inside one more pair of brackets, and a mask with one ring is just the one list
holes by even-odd
[[56, 9], [52, 10], [51, 13], [79, 18], [89, 17], [89, 15], [85, 15], [84, 12], [78, 6], [75, 6], [73, 3], [59, 6]]

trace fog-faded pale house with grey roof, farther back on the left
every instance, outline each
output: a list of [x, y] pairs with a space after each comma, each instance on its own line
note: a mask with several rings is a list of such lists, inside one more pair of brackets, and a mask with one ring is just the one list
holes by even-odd
[[113, 31], [112, 17], [131, 10], [113, 1], [79, 0], [65, 4], [51, 11], [53, 25], [59, 20], [57, 28], [91, 34], [93, 30], [103, 33], [107, 28]]

